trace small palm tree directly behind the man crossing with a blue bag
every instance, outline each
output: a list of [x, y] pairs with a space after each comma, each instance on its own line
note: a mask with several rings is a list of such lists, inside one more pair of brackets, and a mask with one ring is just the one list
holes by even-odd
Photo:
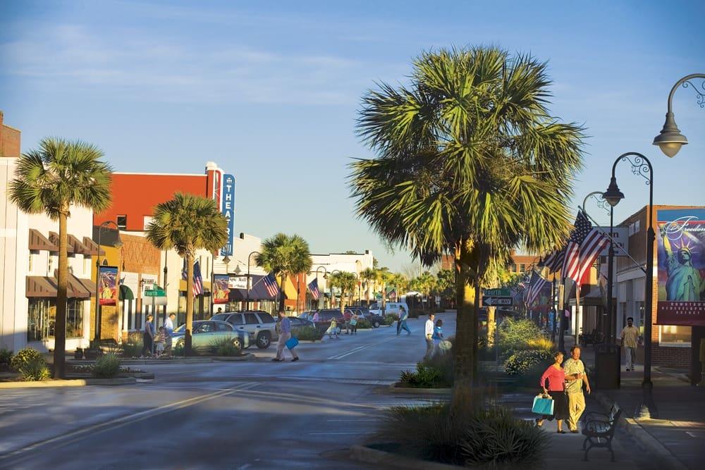
[[264, 240], [262, 252], [255, 256], [255, 262], [281, 279], [280, 311], [284, 309], [283, 287], [288, 276], [307, 273], [313, 265], [308, 242], [299, 235], [289, 236], [284, 233], [277, 233]]

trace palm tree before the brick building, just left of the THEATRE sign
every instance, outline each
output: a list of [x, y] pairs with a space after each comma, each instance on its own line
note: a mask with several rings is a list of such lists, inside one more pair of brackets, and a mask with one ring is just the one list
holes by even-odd
[[157, 204], [147, 225], [147, 240], [159, 250], [174, 249], [186, 263], [185, 355], [192, 354], [193, 264], [197, 249], [209, 252], [228, 242], [228, 221], [213, 199], [176, 192], [170, 201]]

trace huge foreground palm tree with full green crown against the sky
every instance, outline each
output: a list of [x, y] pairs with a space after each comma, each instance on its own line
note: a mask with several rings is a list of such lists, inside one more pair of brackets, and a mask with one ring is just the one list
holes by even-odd
[[568, 235], [582, 128], [546, 109], [546, 64], [496, 47], [441, 49], [414, 61], [408, 87], [363, 98], [358, 135], [376, 159], [350, 163], [357, 216], [432, 266], [453, 254], [460, 404], [477, 379], [477, 305], [486, 272], [510, 249]]

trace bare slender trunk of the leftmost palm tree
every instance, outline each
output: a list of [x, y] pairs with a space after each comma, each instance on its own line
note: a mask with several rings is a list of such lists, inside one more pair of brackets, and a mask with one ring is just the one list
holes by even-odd
[[[67, 214], [59, 213], [59, 272], [56, 276], [56, 322], [54, 323], [54, 378], [66, 377], [66, 290], [68, 287]], [[98, 299], [95, 299], [98, 302]]]

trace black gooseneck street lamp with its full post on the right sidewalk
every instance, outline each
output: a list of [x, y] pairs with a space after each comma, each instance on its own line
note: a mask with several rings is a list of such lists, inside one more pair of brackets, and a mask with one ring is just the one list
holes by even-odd
[[[630, 158], [634, 156], [634, 160]], [[620, 200], [624, 199], [623, 192], [617, 186], [615, 178], [615, 168], [620, 161], [628, 161], [632, 166], [632, 173], [640, 175], [646, 179], [646, 185], [649, 186], [649, 209], [648, 209], [648, 230], [646, 230], [646, 286], [644, 289], [644, 304], [646, 312], [644, 315], [644, 381], [642, 381], [642, 389], [644, 390], [644, 402], [642, 403], [640, 414], [642, 417], [656, 417], [656, 406], [651, 397], [651, 389], [654, 384], [651, 383], [651, 315], [653, 311], [654, 299], [654, 168], [651, 167], [651, 162], [646, 156], [635, 151], [629, 151], [617, 157], [612, 165], [612, 178], [607, 191], [602, 194], [602, 197], [612, 206], [616, 206]], [[648, 173], [648, 177], [646, 174]], [[653, 409], [653, 413], [649, 414], [649, 407]]]

